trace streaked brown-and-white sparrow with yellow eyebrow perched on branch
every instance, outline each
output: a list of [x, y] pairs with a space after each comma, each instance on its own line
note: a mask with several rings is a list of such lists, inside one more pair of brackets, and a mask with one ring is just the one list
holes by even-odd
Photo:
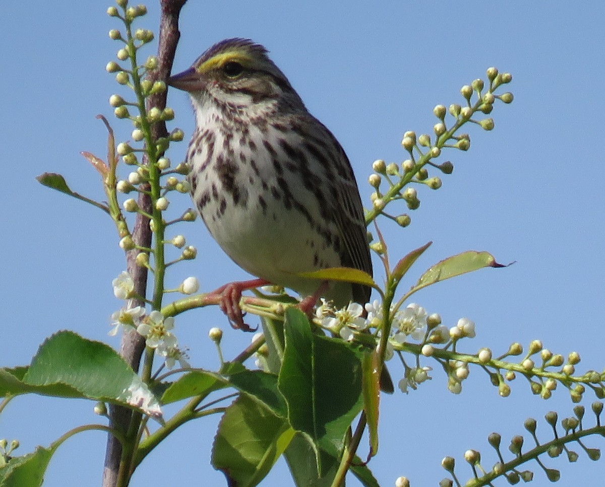
[[345, 306], [371, 289], [297, 273], [353, 267], [372, 273], [364, 213], [347, 155], [311, 115], [267, 50], [226, 39], [168, 84], [189, 92], [191, 195], [206, 227], [241, 268], [260, 279], [232, 283], [221, 308], [243, 323], [241, 291], [265, 283]]

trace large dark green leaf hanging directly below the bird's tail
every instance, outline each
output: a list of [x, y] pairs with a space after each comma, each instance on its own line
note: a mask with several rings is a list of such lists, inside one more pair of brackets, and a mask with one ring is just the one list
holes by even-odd
[[288, 404], [290, 424], [312, 439], [319, 477], [338, 457], [345, 433], [361, 411], [361, 363], [342, 340], [314, 335], [299, 309], [286, 310], [286, 349], [278, 385]]

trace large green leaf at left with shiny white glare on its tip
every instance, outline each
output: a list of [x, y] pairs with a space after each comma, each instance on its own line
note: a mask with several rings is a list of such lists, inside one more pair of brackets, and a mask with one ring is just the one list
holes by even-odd
[[114, 349], [69, 331], [47, 338], [30, 367], [0, 369], [0, 392], [88, 398], [162, 416], [155, 396]]

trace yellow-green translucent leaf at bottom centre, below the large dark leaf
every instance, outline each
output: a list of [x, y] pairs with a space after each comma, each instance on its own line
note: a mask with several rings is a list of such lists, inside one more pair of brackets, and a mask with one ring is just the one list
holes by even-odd
[[252, 487], [266, 477], [295, 431], [261, 402], [240, 395], [225, 411], [212, 446], [212, 466], [233, 487]]

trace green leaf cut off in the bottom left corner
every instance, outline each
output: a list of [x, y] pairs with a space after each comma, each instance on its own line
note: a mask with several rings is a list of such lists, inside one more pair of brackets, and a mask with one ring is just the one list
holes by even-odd
[[55, 447], [37, 447], [33, 453], [13, 457], [0, 468], [0, 487], [39, 487]]

